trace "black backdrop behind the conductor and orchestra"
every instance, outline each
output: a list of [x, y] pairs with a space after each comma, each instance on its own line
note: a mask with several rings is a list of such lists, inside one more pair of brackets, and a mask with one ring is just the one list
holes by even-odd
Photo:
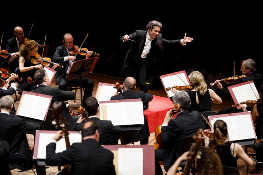
[[262, 73], [263, 15], [259, 4], [147, 3], [139, 5], [131, 1], [115, 5], [101, 2], [91, 5], [71, 1], [59, 7], [45, 4], [42, 10], [25, 10], [15, 17], [5, 15], [2, 16], [5, 22], [0, 23], [1, 49], [5, 49], [7, 40], [13, 37], [15, 26], [21, 26], [27, 37], [33, 23], [29, 39], [38, 43], [44, 43], [47, 34], [46, 44], [50, 45], [47, 56], [50, 58], [55, 48], [62, 45], [63, 34], [71, 33], [74, 45], [80, 46], [89, 32], [83, 47], [100, 54], [93, 72], [119, 77], [130, 44], [120, 43], [119, 38], [136, 29], [144, 30], [150, 20], [158, 20], [163, 24], [163, 38], [181, 39], [184, 33], [194, 38], [193, 43], [179, 50], [165, 50], [166, 59], [160, 67], [163, 74], [195, 67], [206, 72], [205, 76], [220, 71], [228, 77], [233, 74], [235, 61], [236, 74], [240, 75], [240, 61], [247, 58], [255, 59], [258, 71]]

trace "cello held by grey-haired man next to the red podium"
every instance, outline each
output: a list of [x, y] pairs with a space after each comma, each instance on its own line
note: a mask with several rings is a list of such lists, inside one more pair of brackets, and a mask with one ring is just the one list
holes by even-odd
[[[174, 109], [170, 109], [170, 112], [172, 115], [178, 113], [180, 111], [181, 107], [180, 104], [176, 103], [174, 104]], [[154, 130], [154, 138], [155, 138], [155, 143], [154, 143], [154, 149], [164, 149], [164, 145], [162, 143], [162, 125], [159, 125], [155, 128]]]

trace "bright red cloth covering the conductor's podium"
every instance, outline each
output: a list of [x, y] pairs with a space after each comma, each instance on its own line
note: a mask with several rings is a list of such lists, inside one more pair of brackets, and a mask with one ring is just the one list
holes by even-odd
[[163, 123], [163, 119], [168, 110], [173, 109], [174, 105], [169, 98], [153, 95], [153, 99], [149, 102], [149, 108], [144, 111], [144, 115], [148, 121], [150, 133]]

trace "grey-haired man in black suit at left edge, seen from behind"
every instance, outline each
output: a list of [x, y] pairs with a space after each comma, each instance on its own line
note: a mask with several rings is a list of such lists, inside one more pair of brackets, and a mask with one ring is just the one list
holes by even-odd
[[[16, 164], [14, 167], [21, 170], [32, 169], [33, 150], [29, 149], [26, 133], [35, 134], [40, 127], [37, 124], [29, 124], [17, 115], [10, 114], [13, 108], [14, 99], [12, 96], [3, 96], [0, 99], [0, 139], [9, 143], [10, 151], [13, 153], [22, 153], [26, 161], [22, 164]], [[38, 174], [46, 174], [45, 168], [35, 164]]]

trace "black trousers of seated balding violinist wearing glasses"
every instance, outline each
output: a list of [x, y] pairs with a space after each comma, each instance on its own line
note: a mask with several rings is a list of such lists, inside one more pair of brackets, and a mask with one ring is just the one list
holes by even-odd
[[[70, 80], [68, 81], [66, 78], [62, 78], [59, 81], [59, 88], [61, 90], [69, 90], [69, 87], [74, 87], [74, 86], [80, 86], [80, 80], [75, 79], [75, 80]], [[83, 95], [83, 102], [85, 99], [89, 96], [92, 96], [92, 91], [94, 87], [94, 82], [90, 78], [82, 78], [82, 87], [84, 88], [84, 95]]]

